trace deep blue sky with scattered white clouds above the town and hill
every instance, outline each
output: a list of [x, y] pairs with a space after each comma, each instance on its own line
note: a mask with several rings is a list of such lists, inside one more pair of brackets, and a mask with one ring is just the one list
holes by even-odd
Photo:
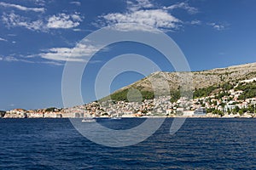
[[[125, 31], [150, 31], [143, 24], [165, 32], [191, 71], [256, 62], [255, 6], [254, 0], [0, 1], [0, 110], [63, 107], [61, 78], [68, 58], [87, 62], [84, 103], [96, 99], [97, 72], [117, 55], [141, 54], [162, 71], [173, 71], [158, 51], [136, 42], [111, 44], [91, 60], [72, 53], [84, 37], [114, 24], [127, 24]], [[85, 58], [97, 50], [93, 45], [79, 49]], [[134, 71], [120, 73], [111, 92], [140, 78]]]

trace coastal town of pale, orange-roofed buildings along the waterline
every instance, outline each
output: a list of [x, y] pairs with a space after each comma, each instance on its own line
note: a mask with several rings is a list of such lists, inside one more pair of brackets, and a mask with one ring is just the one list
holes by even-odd
[[[94, 101], [86, 105], [58, 109], [55, 107], [26, 111], [0, 111], [3, 118], [81, 118], [90, 117], [256, 117], [256, 78], [241, 81], [235, 87], [216, 94], [176, 101], [171, 95], [143, 101]], [[247, 94], [248, 89], [251, 94]], [[252, 93], [253, 92], [253, 93]]]

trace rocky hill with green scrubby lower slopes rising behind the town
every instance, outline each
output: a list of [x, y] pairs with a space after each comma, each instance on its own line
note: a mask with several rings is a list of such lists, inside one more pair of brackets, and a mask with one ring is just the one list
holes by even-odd
[[[190, 77], [189, 82], [188, 80], [184, 80], [186, 77]], [[127, 96], [129, 96], [128, 93], [131, 89], [133, 91], [138, 90], [142, 95], [136, 96], [137, 93], [134, 93], [134, 96], [131, 97], [133, 99], [137, 99], [139, 97], [142, 97], [143, 99], [153, 99], [155, 90], [159, 91], [160, 93], [158, 94], [160, 95], [171, 94], [172, 99], [178, 99], [180, 97], [179, 91], [181, 84], [184, 84], [182, 88], [187, 88], [193, 92], [194, 98], [198, 98], [210, 94], [216, 94], [221, 89], [234, 88], [239, 81], [252, 79], [254, 77], [256, 77], [256, 63], [234, 65], [208, 71], [158, 71], [143, 78], [142, 80], [132, 83], [129, 86], [120, 88], [118, 91], [104, 99], [109, 99], [111, 97], [111, 99], [115, 101], [127, 101]], [[154, 82], [154, 89], [152, 82]], [[166, 89], [166, 84], [163, 82], [168, 83], [168, 89]]]

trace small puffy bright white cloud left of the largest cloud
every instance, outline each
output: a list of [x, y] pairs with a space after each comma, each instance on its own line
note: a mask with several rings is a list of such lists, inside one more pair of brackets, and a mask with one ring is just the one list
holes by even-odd
[[57, 14], [49, 17], [47, 27], [48, 28], [73, 28], [79, 26], [80, 21], [82, 18], [79, 16], [78, 13], [76, 14]]

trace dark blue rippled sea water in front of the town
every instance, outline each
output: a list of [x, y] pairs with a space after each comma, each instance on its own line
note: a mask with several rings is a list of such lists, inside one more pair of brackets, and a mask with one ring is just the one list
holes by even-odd
[[[142, 143], [110, 148], [84, 138], [69, 119], [0, 119], [0, 169], [256, 169], [256, 119], [172, 118]], [[114, 129], [139, 118], [97, 120]]]

